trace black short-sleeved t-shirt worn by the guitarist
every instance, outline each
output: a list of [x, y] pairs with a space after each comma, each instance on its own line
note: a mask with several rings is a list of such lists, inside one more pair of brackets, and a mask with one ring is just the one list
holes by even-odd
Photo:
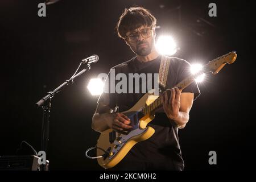
[[[159, 73], [161, 57], [162, 56], [158, 56], [156, 59], [147, 61], [146, 63], [141, 63], [135, 57], [122, 64], [116, 65], [110, 72], [113, 72], [114, 69], [115, 75], [124, 73], [127, 79], [129, 78], [129, 73], [138, 73], [139, 75], [141, 73], [146, 73], [146, 75], [147, 73], [152, 73], [151, 75], [147, 75], [146, 80], [147, 83], [152, 80], [152, 87], [154, 87], [154, 73]], [[173, 88], [181, 80], [188, 77], [191, 74], [189, 68], [190, 64], [187, 61], [178, 59], [177, 57], [171, 57], [166, 89]], [[110, 78], [110, 73], [108, 77]], [[110, 83], [110, 79], [108, 79], [108, 81]], [[116, 83], [117, 82], [118, 81], [116, 81]], [[112, 109], [118, 105], [119, 112], [129, 110], [143, 96], [144, 93], [141, 93], [142, 84], [140, 79], [139, 85], [141, 89], [139, 93], [129, 93], [128, 89], [131, 85], [128, 84], [126, 86], [126, 93], [102, 93], [98, 102], [103, 102]], [[110, 84], [108, 86], [110, 91]], [[182, 92], [194, 93], [194, 100], [200, 95], [196, 82], [193, 82], [187, 88], [183, 89]], [[125, 164], [126, 162], [141, 162], [152, 164], [152, 166], [158, 167], [159, 169], [182, 170], [184, 168], [184, 162], [180, 151], [178, 128], [170, 122], [163, 108], [156, 111], [155, 119], [148, 123], [147, 126], [151, 126], [155, 129], [154, 135], [143, 142], [135, 144], [122, 160], [121, 164]], [[121, 164], [117, 164], [117, 166]]]

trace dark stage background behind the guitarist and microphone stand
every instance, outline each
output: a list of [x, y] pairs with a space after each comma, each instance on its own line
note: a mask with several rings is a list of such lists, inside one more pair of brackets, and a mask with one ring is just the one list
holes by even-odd
[[[139, 5], [155, 15], [157, 35], [174, 36], [180, 47], [174, 56], [206, 64], [230, 51], [238, 55], [234, 64], [199, 85], [201, 96], [188, 125], [179, 130], [185, 169], [254, 167], [253, 1], [62, 0], [47, 6], [41, 18], [40, 2], [0, 3], [0, 155], [15, 155], [22, 140], [40, 150], [42, 110], [35, 102], [69, 78], [81, 59], [97, 54], [100, 60], [90, 72], [53, 98], [48, 159], [51, 170], [102, 169], [85, 157], [99, 135], [90, 127], [98, 96], [86, 86], [90, 78], [134, 56], [114, 28], [125, 7]], [[217, 5], [217, 17], [208, 16], [210, 2]], [[212, 150], [217, 165], [210, 166]]]

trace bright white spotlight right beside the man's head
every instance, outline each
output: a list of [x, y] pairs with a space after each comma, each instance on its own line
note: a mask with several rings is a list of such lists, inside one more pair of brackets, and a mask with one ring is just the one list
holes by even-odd
[[171, 56], [177, 52], [177, 45], [171, 36], [160, 36], [155, 46], [162, 55]]

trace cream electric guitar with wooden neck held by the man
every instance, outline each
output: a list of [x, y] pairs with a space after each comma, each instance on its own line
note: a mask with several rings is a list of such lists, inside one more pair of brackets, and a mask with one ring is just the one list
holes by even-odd
[[[209, 61], [201, 72], [185, 78], [175, 86], [182, 90], [195, 81], [197, 76], [203, 73], [216, 75], [226, 63], [232, 64], [236, 58], [237, 54], [235, 51], [217, 57]], [[98, 164], [104, 168], [112, 168], [126, 156], [136, 143], [150, 138], [155, 130], [147, 126], [147, 124], [154, 119], [155, 110], [160, 106], [162, 106], [162, 101], [159, 96], [154, 96], [154, 93], [146, 93], [137, 104], [129, 110], [123, 111], [122, 113], [130, 118], [130, 125], [133, 128], [126, 134], [117, 133], [112, 129], [105, 130], [100, 134], [96, 146], [97, 156], [101, 156], [101, 158], [97, 158]]]

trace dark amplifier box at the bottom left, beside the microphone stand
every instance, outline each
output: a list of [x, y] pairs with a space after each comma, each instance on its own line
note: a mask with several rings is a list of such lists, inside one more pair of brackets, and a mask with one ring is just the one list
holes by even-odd
[[0, 156], [0, 171], [39, 171], [38, 159], [35, 155]]

